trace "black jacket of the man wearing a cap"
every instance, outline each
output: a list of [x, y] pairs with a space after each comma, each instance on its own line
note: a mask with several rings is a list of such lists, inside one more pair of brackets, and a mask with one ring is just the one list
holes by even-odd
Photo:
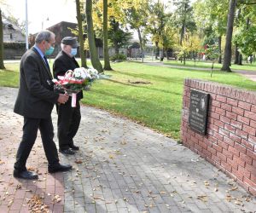
[[[74, 70], [79, 67], [79, 63], [75, 60], [74, 57], [70, 57], [64, 51], [59, 52], [59, 54], [55, 58], [55, 62], [53, 65], [53, 73], [54, 77], [58, 79], [58, 76], [64, 76], [68, 70]], [[83, 98], [83, 92], [79, 92], [77, 95], [77, 99], [80, 100]]]

